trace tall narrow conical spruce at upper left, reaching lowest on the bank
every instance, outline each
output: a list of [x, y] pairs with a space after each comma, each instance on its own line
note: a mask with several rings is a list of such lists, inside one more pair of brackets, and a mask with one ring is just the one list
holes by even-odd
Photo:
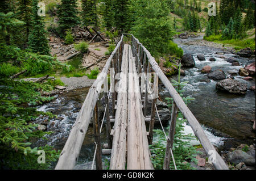
[[46, 39], [46, 31], [42, 18], [38, 15], [38, 0], [33, 0], [32, 4], [32, 31], [28, 37], [28, 48], [32, 52], [49, 55], [49, 45]]

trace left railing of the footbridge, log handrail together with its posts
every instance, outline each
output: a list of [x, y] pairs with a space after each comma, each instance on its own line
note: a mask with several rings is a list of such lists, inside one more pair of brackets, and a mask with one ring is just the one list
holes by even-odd
[[[108, 80], [107, 75], [110, 69], [110, 64], [112, 65], [112, 68], [115, 70], [115, 73], [118, 73], [118, 70], [120, 70], [119, 68], [121, 63], [120, 57], [122, 56], [122, 47], [123, 35], [117, 43], [114, 51], [106, 61], [106, 64], [102, 69], [101, 73], [98, 75], [96, 81], [89, 89], [88, 95], [86, 96], [86, 99], [82, 104], [82, 108], [79, 112], [79, 115], [77, 116], [77, 119], [73, 124], [71, 132], [69, 133], [68, 140], [60, 153], [59, 161], [57, 162], [57, 165], [55, 167], [56, 170], [71, 170], [76, 166], [82, 142], [84, 142], [84, 137], [87, 132], [90, 120], [92, 120], [92, 117], [94, 117], [94, 136], [96, 137], [95, 140], [97, 143], [96, 162], [101, 162], [101, 145], [99, 140], [100, 127], [97, 116], [97, 100], [99, 98], [102, 85], [104, 85], [104, 83], [106, 83], [106, 80]], [[114, 90], [114, 87], [112, 87], [112, 89]], [[108, 92], [108, 90], [104, 90], [104, 92], [106, 95], [106, 92]], [[116, 94], [116, 92], [113, 92], [113, 102], [116, 99]], [[93, 113], [95, 113], [95, 115], [93, 115]], [[109, 120], [109, 116], [107, 117], [107, 120]], [[108, 131], [110, 132], [111, 130]], [[102, 163], [96, 164], [96, 167], [97, 169], [102, 169]]]

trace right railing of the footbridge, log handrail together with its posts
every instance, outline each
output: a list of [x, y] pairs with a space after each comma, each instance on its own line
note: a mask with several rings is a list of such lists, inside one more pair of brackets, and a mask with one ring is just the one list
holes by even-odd
[[[174, 141], [177, 110], [179, 110], [181, 113], [183, 113], [183, 116], [185, 117], [185, 119], [187, 119], [189, 125], [191, 126], [193, 132], [195, 133], [195, 136], [199, 139], [201, 145], [203, 146], [204, 150], [208, 154], [209, 160], [211, 159], [213, 166], [218, 170], [228, 170], [226, 163], [221, 158], [221, 156], [217, 153], [216, 149], [214, 149], [214, 146], [210, 143], [208, 137], [205, 135], [199, 121], [197, 121], [196, 117], [193, 115], [193, 113], [189, 110], [187, 105], [184, 103], [183, 99], [175, 90], [175, 88], [172, 86], [171, 82], [163, 73], [162, 69], [160, 69], [160, 67], [158, 66], [158, 63], [155, 61], [155, 58], [151, 56], [150, 52], [148, 52], [148, 50], [133, 35], [131, 34], [123, 34], [123, 35], [130, 36], [131, 47], [132, 47], [133, 53], [135, 54], [135, 58], [138, 61], [138, 65], [143, 64], [142, 71], [144, 71], [145, 73], [148, 72], [148, 69], [146, 70], [146, 67], [150, 68], [151, 66], [151, 68], [155, 71], [155, 73], [158, 74], [159, 79], [162, 81], [163, 85], [168, 90], [170, 96], [174, 99], [163, 169], [169, 169], [170, 158], [171, 158], [170, 148], [172, 148], [173, 141]], [[139, 71], [140, 69], [141, 68], [139, 68], [138, 66]], [[144, 104], [146, 102], [146, 96], [147, 96], [147, 89], [144, 96]]]

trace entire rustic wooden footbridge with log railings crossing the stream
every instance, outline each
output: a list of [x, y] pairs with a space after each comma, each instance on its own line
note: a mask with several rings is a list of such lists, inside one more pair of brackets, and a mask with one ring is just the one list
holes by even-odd
[[[124, 43], [124, 36], [129, 39], [129, 44]], [[154, 83], [152, 83], [152, 77], [148, 74], [151, 70], [154, 71]], [[110, 73], [110, 79], [114, 80], [110, 81], [110, 89], [108, 89], [108, 73]], [[139, 78], [138, 75], [142, 76]], [[117, 77], [119, 82], [115, 79]], [[159, 68], [155, 58], [139, 43], [138, 39], [130, 34], [122, 35], [113, 53], [106, 61], [106, 65], [93, 83], [93, 86], [90, 87], [55, 169], [73, 169], [76, 166], [82, 142], [91, 120], [93, 120], [96, 142], [96, 151], [94, 153], [96, 169], [102, 169], [102, 147], [111, 151], [110, 170], [154, 169], [151, 164], [148, 145], [152, 144], [155, 113], [158, 113], [155, 104], [158, 98], [158, 78], [174, 99], [170, 130], [168, 136], [166, 136], [167, 146], [163, 169], [170, 169], [171, 159], [175, 163], [172, 146], [178, 110], [188, 120], [196, 137], [201, 142], [206, 153], [208, 153], [209, 159], [212, 160], [214, 167], [216, 169], [228, 169], [205, 135], [196, 117], [188, 109], [183, 99]], [[103, 89], [102, 86], [104, 86]], [[104, 113], [106, 121], [102, 120], [100, 126], [97, 101], [102, 90], [104, 91], [106, 103]], [[148, 99], [152, 100], [151, 105], [148, 103]], [[146, 110], [150, 107], [151, 115], [147, 115]], [[146, 128], [145, 121], [150, 121], [149, 128]], [[110, 122], [114, 122], [113, 128]], [[108, 138], [108, 144], [104, 144], [104, 146], [101, 145], [100, 140], [103, 123], [106, 124]]]

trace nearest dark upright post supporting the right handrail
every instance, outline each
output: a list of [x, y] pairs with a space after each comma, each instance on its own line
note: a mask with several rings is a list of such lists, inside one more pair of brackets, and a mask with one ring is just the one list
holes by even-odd
[[166, 144], [166, 155], [164, 157], [164, 165], [163, 165], [163, 170], [168, 170], [170, 169], [170, 160], [171, 160], [171, 150], [172, 146], [174, 145], [174, 135], [175, 135], [175, 127], [176, 127], [176, 120], [177, 120], [177, 105], [174, 102], [172, 104], [172, 117], [171, 117], [171, 124], [170, 124], [170, 129], [168, 133], [168, 139], [167, 139], [167, 144]]

